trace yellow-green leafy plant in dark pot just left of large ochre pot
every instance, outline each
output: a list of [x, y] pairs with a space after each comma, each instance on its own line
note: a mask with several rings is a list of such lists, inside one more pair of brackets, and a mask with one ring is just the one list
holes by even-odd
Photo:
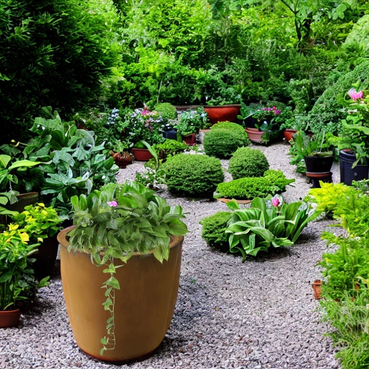
[[39, 244], [32, 254], [35, 277], [41, 280], [51, 276], [58, 254], [57, 233], [62, 229], [60, 224], [65, 217], [60, 217], [53, 207], [47, 208], [42, 203], [26, 206], [22, 213], [12, 212], [9, 217], [30, 235], [33, 244]]

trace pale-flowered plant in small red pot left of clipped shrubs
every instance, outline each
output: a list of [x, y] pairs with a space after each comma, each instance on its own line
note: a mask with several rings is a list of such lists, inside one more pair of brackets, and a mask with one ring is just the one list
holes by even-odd
[[187, 145], [194, 145], [196, 133], [206, 125], [206, 122], [207, 114], [200, 108], [184, 111], [176, 125], [177, 140], [180, 142], [183, 140]]

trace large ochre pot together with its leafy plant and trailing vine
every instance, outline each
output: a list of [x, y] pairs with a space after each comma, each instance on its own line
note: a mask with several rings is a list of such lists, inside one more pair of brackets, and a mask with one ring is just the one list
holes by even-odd
[[92, 208], [78, 198], [73, 204], [76, 226], [64, 229], [58, 240], [77, 344], [105, 361], [153, 352], [177, 299], [187, 232], [182, 208], [171, 210], [154, 191], [132, 182], [95, 191]]

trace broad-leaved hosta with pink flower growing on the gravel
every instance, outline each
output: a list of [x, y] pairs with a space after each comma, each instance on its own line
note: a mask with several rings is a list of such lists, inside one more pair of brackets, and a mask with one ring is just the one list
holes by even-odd
[[230, 251], [241, 252], [243, 262], [247, 255], [256, 256], [271, 246], [293, 245], [307, 223], [319, 215], [312, 204], [285, 204], [278, 195], [269, 200], [257, 197], [248, 209], [240, 209], [235, 200], [227, 206], [233, 211], [225, 231], [229, 234]]

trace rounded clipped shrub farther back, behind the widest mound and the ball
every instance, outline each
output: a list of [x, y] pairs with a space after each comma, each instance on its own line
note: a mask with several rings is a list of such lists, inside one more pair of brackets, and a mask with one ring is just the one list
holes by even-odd
[[207, 155], [230, 157], [238, 148], [249, 144], [245, 130], [212, 129], [205, 133], [203, 145]]

